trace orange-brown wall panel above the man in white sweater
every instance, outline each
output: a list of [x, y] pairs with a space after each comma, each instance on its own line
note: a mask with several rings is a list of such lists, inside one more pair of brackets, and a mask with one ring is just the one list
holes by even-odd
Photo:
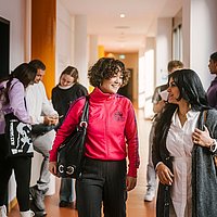
[[46, 64], [43, 84], [48, 98], [55, 81], [56, 0], [31, 0], [31, 60]]

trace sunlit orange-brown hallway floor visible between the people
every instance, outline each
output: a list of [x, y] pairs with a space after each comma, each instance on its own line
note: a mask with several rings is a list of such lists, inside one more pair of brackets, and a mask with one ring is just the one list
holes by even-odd
[[[148, 138], [151, 127], [150, 120], [144, 120], [143, 112], [138, 111], [137, 115], [139, 140], [140, 140], [140, 168], [138, 183], [135, 190], [129, 192], [127, 201], [127, 217], [155, 217], [155, 201], [143, 202], [145, 192], [145, 170], [148, 162]], [[56, 178], [56, 193], [46, 197], [47, 217], [77, 217], [77, 210], [73, 207], [60, 208], [59, 205], [60, 179]], [[17, 207], [13, 208], [9, 217], [20, 217]]]

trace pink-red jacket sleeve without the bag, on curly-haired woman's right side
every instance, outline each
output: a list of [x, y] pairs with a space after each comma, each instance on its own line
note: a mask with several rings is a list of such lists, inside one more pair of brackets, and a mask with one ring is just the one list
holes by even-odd
[[128, 111], [128, 118], [125, 130], [126, 130], [126, 138], [128, 144], [128, 158], [129, 158], [128, 176], [136, 178], [137, 169], [139, 168], [140, 165], [140, 158], [139, 158], [137, 120], [132, 105], [130, 105]]

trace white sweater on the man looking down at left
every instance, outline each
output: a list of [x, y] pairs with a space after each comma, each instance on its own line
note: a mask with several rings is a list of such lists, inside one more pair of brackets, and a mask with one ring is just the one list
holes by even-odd
[[43, 116], [58, 115], [58, 112], [47, 98], [46, 89], [41, 81], [27, 87], [26, 106], [33, 124], [43, 123]]

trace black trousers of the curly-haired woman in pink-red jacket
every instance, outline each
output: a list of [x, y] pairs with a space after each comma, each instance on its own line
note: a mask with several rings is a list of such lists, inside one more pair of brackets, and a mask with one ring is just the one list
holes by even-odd
[[126, 161], [86, 158], [76, 196], [79, 217], [126, 217]]

